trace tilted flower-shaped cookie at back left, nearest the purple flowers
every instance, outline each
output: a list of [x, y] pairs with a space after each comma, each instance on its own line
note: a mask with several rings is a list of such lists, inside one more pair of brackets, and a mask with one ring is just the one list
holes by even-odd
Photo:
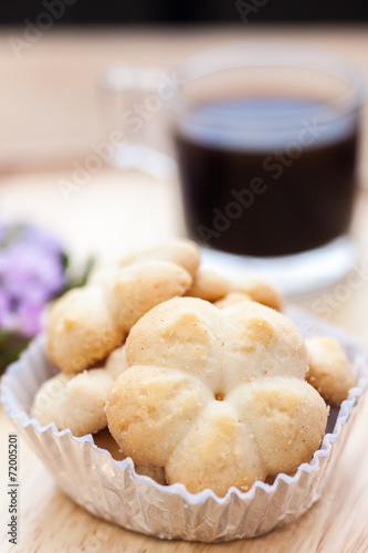
[[199, 264], [198, 247], [175, 240], [94, 272], [51, 309], [48, 355], [65, 373], [101, 362], [155, 305], [183, 295]]

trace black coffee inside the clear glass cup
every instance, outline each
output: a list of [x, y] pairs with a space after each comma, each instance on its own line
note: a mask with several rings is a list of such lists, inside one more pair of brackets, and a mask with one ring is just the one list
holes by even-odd
[[[264, 257], [311, 250], [347, 232], [356, 188], [356, 116], [343, 121], [330, 107], [323, 113], [313, 107], [280, 98], [207, 104], [177, 127], [191, 238]], [[217, 121], [235, 116], [236, 132], [202, 124], [214, 114]], [[266, 131], [257, 127], [259, 118]]]

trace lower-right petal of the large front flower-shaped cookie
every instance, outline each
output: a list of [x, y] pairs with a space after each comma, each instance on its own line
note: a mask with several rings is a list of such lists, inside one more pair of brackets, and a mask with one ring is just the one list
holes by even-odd
[[267, 473], [292, 473], [311, 461], [327, 424], [325, 401], [298, 378], [274, 376], [244, 384], [227, 396], [254, 435]]

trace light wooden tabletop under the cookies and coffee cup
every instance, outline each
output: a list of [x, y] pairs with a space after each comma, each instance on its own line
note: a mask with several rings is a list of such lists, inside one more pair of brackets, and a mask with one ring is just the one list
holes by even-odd
[[[14, 34], [22, 30], [14, 30]], [[28, 219], [54, 229], [76, 263], [87, 252], [108, 257], [119, 249], [182, 232], [178, 185], [138, 174], [103, 168], [70, 202], [57, 188], [69, 178], [74, 160], [83, 163], [97, 135], [94, 82], [108, 63], [168, 65], [203, 48], [239, 40], [313, 42], [343, 54], [368, 73], [367, 29], [248, 29], [224, 31], [153, 31], [44, 33], [14, 59], [9, 33], [0, 35], [2, 70], [0, 128], [0, 213], [4, 220]], [[367, 127], [367, 125], [366, 125]], [[366, 144], [366, 143], [365, 143]], [[362, 147], [361, 190], [354, 232], [361, 259], [368, 252], [368, 188], [366, 146]], [[345, 300], [338, 286], [329, 321], [368, 343], [368, 276]], [[326, 292], [298, 302], [316, 311]], [[8, 432], [12, 426], [0, 414], [0, 539], [1, 552], [75, 553], [222, 553], [325, 552], [368, 550], [368, 401], [351, 431], [324, 498], [296, 523], [271, 534], [230, 544], [162, 542], [99, 521], [69, 500], [54, 484], [27, 442], [20, 438], [20, 539], [7, 541], [6, 473]]]

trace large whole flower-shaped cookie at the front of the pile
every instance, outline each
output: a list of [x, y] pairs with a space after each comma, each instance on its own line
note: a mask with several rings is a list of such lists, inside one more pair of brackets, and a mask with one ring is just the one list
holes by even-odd
[[327, 407], [305, 382], [302, 335], [274, 310], [176, 298], [136, 323], [126, 356], [108, 427], [135, 462], [165, 467], [168, 483], [248, 490], [319, 447]]

